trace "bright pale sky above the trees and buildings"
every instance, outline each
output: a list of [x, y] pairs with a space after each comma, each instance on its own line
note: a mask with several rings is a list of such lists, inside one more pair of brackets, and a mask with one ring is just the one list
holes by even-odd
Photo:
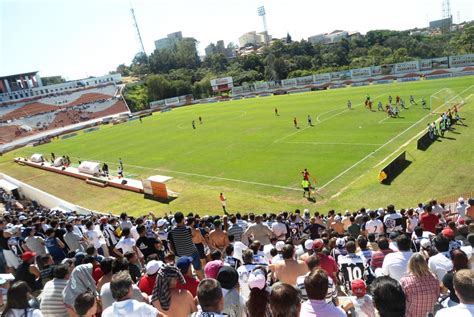
[[[366, 33], [428, 26], [442, 17], [442, 0], [0, 0], [0, 76], [28, 71], [68, 80], [101, 76], [140, 50], [131, 4], [145, 51], [182, 31], [198, 40], [238, 43], [245, 32], [263, 31], [294, 40], [335, 29]], [[473, 0], [451, 0], [455, 23], [474, 19]]]

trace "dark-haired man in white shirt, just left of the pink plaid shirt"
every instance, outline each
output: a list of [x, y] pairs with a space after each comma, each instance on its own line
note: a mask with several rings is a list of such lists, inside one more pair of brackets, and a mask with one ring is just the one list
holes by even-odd
[[413, 252], [411, 251], [410, 238], [405, 234], [397, 237], [397, 246], [398, 252], [389, 253], [385, 256], [382, 264], [382, 273], [399, 281], [407, 274], [408, 261]]

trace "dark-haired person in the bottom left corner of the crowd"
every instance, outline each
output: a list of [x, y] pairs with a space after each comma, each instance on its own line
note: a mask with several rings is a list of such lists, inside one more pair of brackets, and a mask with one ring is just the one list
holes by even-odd
[[13, 283], [7, 292], [7, 304], [3, 317], [43, 317], [41, 310], [31, 308], [30, 301], [35, 299], [31, 290], [23, 281]]

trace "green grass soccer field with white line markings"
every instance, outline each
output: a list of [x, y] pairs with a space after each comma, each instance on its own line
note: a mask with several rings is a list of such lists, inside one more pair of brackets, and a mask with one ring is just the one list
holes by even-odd
[[[0, 171], [29, 180], [33, 185], [88, 208], [114, 213], [126, 210], [139, 214], [150, 208], [218, 212], [220, 192], [227, 196], [231, 211], [339, 207], [344, 200], [336, 204], [333, 200], [342, 199], [351, 186], [357, 185], [355, 183], [363, 182], [366, 190], [377, 194], [376, 188], [384, 187], [377, 181], [377, 172], [383, 166], [377, 165], [399, 153], [402, 146], [412, 144], [407, 142], [413, 141], [428, 122], [437, 118], [438, 114], [422, 109], [421, 97], [429, 103], [430, 95], [449, 88], [454, 95], [461, 93], [460, 97], [466, 102], [461, 114], [469, 117], [473, 99], [470, 95], [474, 89], [466, 88], [471, 85], [473, 77], [469, 76], [183, 107], [155, 113], [143, 119], [143, 123], [135, 120], [117, 126], [102, 126], [99, 131], [17, 150], [1, 158]], [[372, 112], [363, 105], [366, 94], [373, 101]], [[402, 109], [400, 118], [389, 118], [385, 112], [377, 111], [378, 101], [385, 106], [389, 95], [394, 100], [397, 95], [405, 100], [408, 110]], [[409, 95], [414, 95], [418, 105], [410, 105]], [[347, 100], [352, 101], [352, 110], [347, 108]], [[274, 113], [275, 107], [279, 116]], [[438, 109], [443, 110], [446, 107]], [[308, 115], [312, 117], [313, 126], [307, 123]], [[203, 119], [202, 124], [199, 116]], [[299, 128], [294, 127], [294, 118], [297, 118]], [[192, 120], [196, 122], [196, 129], [192, 128]], [[459, 138], [466, 137], [471, 130], [470, 127], [459, 127]], [[464, 148], [467, 145], [464, 142], [458, 140], [449, 146]], [[413, 147], [410, 149], [416, 151]], [[433, 155], [430, 151], [425, 155]], [[143, 200], [142, 195], [120, 192], [120, 197], [116, 193], [119, 190], [95, 188], [64, 176], [10, 163], [14, 156], [32, 153], [49, 156], [50, 152], [69, 155], [76, 163], [78, 159], [107, 162], [112, 172], [116, 172], [121, 157], [126, 177], [172, 176], [174, 179], [168, 182], [168, 187], [179, 192], [180, 197], [169, 206], [163, 206]], [[461, 161], [460, 164], [470, 163]], [[309, 170], [319, 188], [316, 204], [302, 198], [300, 183], [304, 168]], [[369, 171], [371, 174], [367, 175]], [[419, 173], [416, 164], [409, 166], [405, 173]], [[364, 175], [367, 176], [364, 178]], [[59, 185], [52, 185], [52, 182]], [[396, 182], [388, 187], [397, 189]], [[466, 191], [471, 190], [471, 180], [461, 183], [464, 185], [452, 190], [464, 187]], [[72, 192], [69, 192], [69, 186], [73, 186]], [[433, 190], [438, 190], [436, 188]], [[397, 192], [399, 194], [403, 193]], [[430, 198], [421, 193], [422, 197], [414, 194], [406, 197], [409, 203]], [[132, 197], [129, 198], [132, 202], [124, 202], [125, 197]], [[371, 203], [386, 204], [387, 199], [381, 195]], [[354, 203], [354, 200], [346, 203]], [[344, 209], [355, 207], [360, 206]]]

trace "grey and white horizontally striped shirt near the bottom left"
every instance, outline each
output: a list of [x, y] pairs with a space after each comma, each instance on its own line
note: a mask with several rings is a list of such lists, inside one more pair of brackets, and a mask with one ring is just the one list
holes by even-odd
[[63, 290], [66, 288], [67, 280], [53, 279], [44, 286], [41, 294], [41, 312], [44, 317], [67, 316], [64, 306]]

